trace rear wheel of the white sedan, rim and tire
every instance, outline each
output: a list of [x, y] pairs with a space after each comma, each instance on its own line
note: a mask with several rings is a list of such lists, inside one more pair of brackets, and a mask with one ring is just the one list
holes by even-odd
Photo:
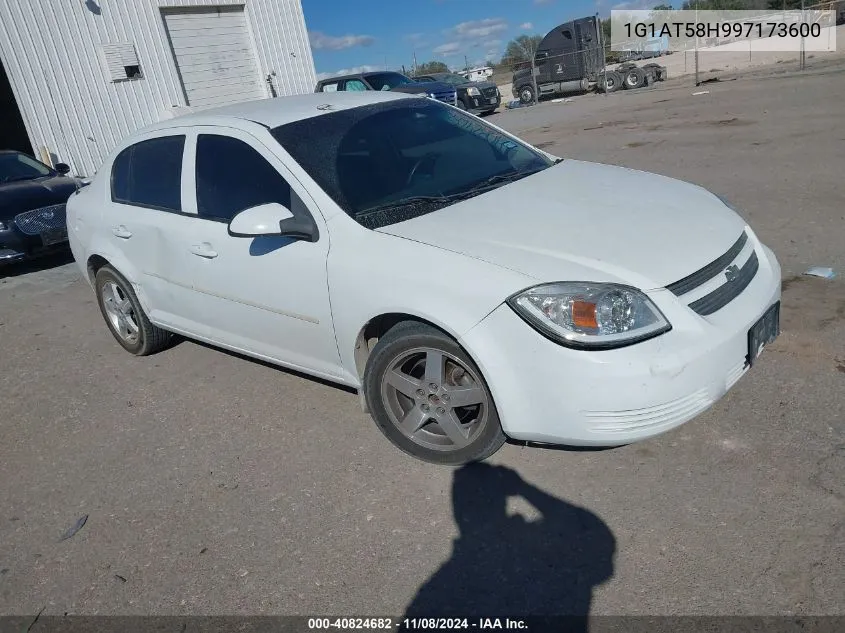
[[111, 266], [103, 266], [97, 271], [94, 290], [109, 331], [130, 354], [155, 354], [173, 339], [173, 334], [150, 322], [132, 284]]

